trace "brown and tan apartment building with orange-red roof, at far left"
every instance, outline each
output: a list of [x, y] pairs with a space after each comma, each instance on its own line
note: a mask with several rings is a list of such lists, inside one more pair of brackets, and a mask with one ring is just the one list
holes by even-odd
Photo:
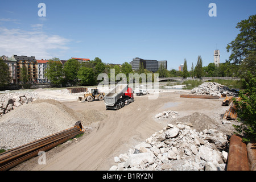
[[17, 61], [17, 83], [22, 82], [23, 68], [27, 71], [28, 82], [38, 82], [38, 62], [35, 56], [17, 56], [13, 55]]

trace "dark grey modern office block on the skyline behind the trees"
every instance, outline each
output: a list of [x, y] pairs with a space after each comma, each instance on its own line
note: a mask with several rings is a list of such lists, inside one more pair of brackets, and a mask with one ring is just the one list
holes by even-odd
[[164, 65], [164, 68], [167, 69], [167, 61], [144, 60], [139, 57], [133, 59], [130, 65], [133, 70], [138, 70], [140, 65], [143, 64], [143, 67], [148, 71], [156, 72], [160, 68], [161, 63]]

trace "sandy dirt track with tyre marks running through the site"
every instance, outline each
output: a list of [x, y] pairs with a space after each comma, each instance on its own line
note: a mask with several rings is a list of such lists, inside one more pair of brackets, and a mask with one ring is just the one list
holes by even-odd
[[47, 155], [46, 165], [34, 164], [30, 169], [108, 170], [114, 165], [114, 156], [127, 152], [129, 148], [166, 126], [168, 119], [155, 119], [155, 114], [161, 111], [178, 111], [180, 117], [200, 112], [212, 119], [221, 117], [220, 113], [225, 113], [226, 108], [221, 107], [221, 100], [180, 98], [180, 94], [184, 93], [160, 93], [157, 100], [136, 96], [135, 102], [120, 110], [106, 110], [104, 101], [62, 102], [77, 112], [98, 111], [105, 115], [105, 118], [92, 123], [96, 124], [96, 129], [84, 135], [79, 142], [56, 152], [55, 155]]

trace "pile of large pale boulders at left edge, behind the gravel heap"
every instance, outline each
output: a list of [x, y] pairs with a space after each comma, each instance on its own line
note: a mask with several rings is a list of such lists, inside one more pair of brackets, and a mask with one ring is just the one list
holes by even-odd
[[19, 107], [23, 104], [27, 104], [28, 102], [32, 102], [34, 99], [35, 97], [28, 96], [28, 94], [18, 94], [13, 96], [12, 98], [5, 98], [3, 102], [0, 102], [0, 117], [8, 113], [9, 111], [15, 109], [16, 107]]

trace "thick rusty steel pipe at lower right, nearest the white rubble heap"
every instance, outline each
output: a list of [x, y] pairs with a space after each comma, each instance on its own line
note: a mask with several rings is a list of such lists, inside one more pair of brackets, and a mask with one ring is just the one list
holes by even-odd
[[240, 135], [230, 138], [227, 171], [249, 171], [247, 148]]

